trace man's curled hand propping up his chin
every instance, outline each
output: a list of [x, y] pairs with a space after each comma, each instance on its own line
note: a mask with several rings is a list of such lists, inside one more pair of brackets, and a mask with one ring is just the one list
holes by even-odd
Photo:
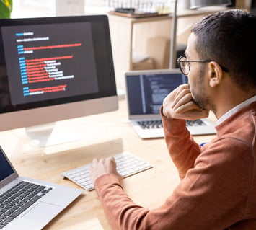
[[207, 118], [208, 114], [208, 110], [195, 104], [188, 84], [177, 87], [163, 102], [163, 115], [167, 118], [197, 120]]

